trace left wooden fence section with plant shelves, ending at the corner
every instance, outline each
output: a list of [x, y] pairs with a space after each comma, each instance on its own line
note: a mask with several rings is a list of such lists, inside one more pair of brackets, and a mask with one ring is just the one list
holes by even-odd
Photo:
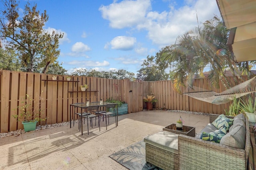
[[[130, 84], [129, 80], [112, 80], [106, 78], [72, 76], [70, 81], [66, 76], [55, 75], [52, 80], [50, 74], [31, 72], [0, 71], [0, 132], [23, 129], [21, 122], [17, 122], [12, 115], [19, 114], [18, 106], [24, 106], [26, 94], [33, 100], [37, 111], [42, 110], [46, 121], [40, 125], [69, 121], [69, 106], [76, 102], [106, 101], [108, 98], [128, 103], [128, 113], [142, 110], [136, 103], [142, 86], [139, 82]], [[80, 90], [80, 85], [88, 84], [86, 92]], [[130, 88], [131, 91], [130, 91]]]

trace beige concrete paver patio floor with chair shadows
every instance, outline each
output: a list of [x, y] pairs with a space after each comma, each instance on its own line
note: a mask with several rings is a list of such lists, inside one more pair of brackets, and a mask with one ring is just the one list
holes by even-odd
[[[84, 125], [84, 135], [78, 123], [31, 131], [17, 136], [0, 138], [0, 168], [4, 170], [126, 170], [109, 155], [124, 149], [144, 137], [161, 131], [175, 123], [180, 116], [184, 125], [196, 127], [200, 132], [208, 123], [209, 116], [172, 111], [140, 111], [114, 117], [106, 131], [105, 122], [90, 128]], [[94, 121], [93, 121], [94, 122]]]

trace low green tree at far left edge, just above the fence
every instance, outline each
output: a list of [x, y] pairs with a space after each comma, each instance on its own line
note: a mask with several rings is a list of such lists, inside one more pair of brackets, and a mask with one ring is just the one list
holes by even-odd
[[0, 48], [0, 70], [20, 70], [20, 63], [13, 50], [7, 51]]

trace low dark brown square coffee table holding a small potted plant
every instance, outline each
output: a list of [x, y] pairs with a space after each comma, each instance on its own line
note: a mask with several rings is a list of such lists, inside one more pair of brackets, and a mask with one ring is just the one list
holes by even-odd
[[187, 136], [191, 136], [191, 137], [196, 136], [196, 128], [195, 127], [184, 126], [184, 125], [182, 127], [182, 130], [178, 130], [178, 129], [176, 129], [176, 124], [171, 124], [171, 125], [164, 127], [163, 131], [187, 135]]

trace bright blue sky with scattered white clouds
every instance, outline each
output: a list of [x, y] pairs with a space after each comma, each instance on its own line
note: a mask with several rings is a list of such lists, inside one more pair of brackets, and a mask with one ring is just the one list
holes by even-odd
[[[26, 0], [19, 7], [24, 9]], [[216, 0], [30, 0], [49, 20], [44, 29], [64, 33], [58, 61], [73, 68], [124, 69], [135, 74], [148, 55], [178, 35], [220, 16]]]

